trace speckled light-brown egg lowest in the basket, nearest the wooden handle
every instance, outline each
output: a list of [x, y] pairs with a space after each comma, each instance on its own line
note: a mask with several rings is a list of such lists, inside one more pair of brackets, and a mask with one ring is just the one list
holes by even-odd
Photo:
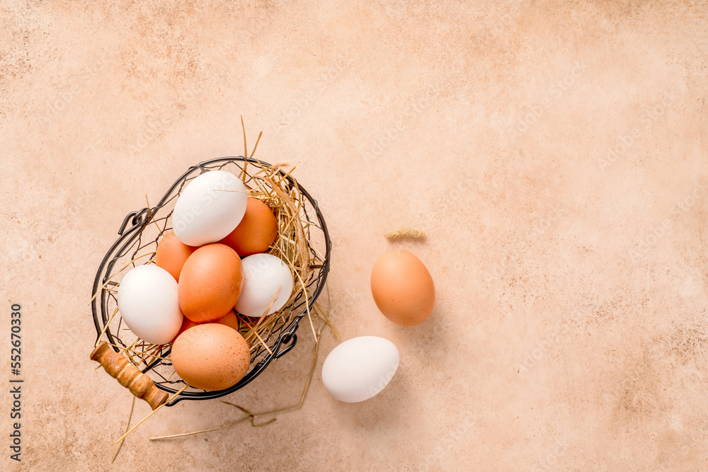
[[249, 371], [249, 345], [236, 330], [219, 323], [193, 326], [172, 345], [172, 365], [183, 381], [202, 390], [224, 390]]

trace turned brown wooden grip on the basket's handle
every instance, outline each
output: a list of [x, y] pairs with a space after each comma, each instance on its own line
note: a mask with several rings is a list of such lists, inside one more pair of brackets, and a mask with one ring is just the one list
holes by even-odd
[[91, 360], [101, 364], [105, 372], [130, 390], [130, 393], [147, 401], [153, 410], [164, 403], [169, 396], [167, 392], [157, 388], [152, 379], [140, 372], [135, 364], [131, 364], [125, 356], [115, 352], [106, 343], [99, 344], [91, 352]]

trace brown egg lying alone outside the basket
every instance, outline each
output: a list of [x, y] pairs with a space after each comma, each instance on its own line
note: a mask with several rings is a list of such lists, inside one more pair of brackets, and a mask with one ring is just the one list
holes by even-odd
[[401, 326], [425, 321], [435, 305], [433, 277], [408, 251], [389, 251], [376, 261], [371, 293], [381, 313]]

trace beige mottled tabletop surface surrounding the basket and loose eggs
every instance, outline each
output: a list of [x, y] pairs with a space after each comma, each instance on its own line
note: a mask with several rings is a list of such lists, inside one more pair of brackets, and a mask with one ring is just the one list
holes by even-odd
[[[0, 338], [5, 357], [22, 304], [20, 467], [708, 468], [708, 7], [314, 3], [0, 4]], [[261, 159], [297, 165], [321, 202], [342, 337], [389, 338], [401, 368], [365, 403], [334, 401], [318, 368], [273, 425], [148, 442], [236, 418], [183, 402], [110, 466], [130, 396], [88, 359], [93, 276], [146, 193], [241, 154], [241, 114]], [[382, 237], [401, 226], [437, 227]], [[420, 326], [370, 296], [389, 248], [435, 279]], [[228, 399], [295, 401], [303, 333]], [[16, 468], [8, 395], [0, 408], [0, 467]]]

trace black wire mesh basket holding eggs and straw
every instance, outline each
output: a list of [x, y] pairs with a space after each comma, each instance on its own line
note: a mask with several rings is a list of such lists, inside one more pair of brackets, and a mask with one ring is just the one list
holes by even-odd
[[[258, 164], [258, 166], [249, 166], [249, 164]], [[128, 362], [137, 366], [143, 374], [147, 374], [157, 388], [164, 392], [177, 393], [185, 386], [185, 382], [176, 376], [172, 364], [169, 362], [171, 345], [163, 345], [156, 352], [144, 352], [146, 348], [144, 346], [141, 348], [139, 345], [126, 351], [131, 341], [135, 340], [135, 335], [127, 329], [120, 318], [115, 288], [119, 284], [122, 273], [149, 261], [147, 257], [140, 258], [141, 255], [149, 255], [152, 251], [156, 251], [159, 238], [165, 231], [171, 229], [171, 215], [174, 205], [190, 180], [208, 171], [223, 170], [242, 176], [246, 188], [251, 188], [256, 183], [254, 179], [257, 177], [249, 173], [249, 169], [256, 171], [261, 166], [272, 167], [269, 163], [243, 156], [220, 157], [190, 167], [173, 183], [157, 205], [127, 214], [118, 230], [120, 237], [110, 247], [98, 267], [96, 279], [93, 281], [92, 294], [94, 297], [91, 301], [93, 323], [98, 335], [97, 343], [98, 340], [105, 337], [115, 352], [122, 353]], [[290, 304], [279, 311], [278, 323], [270, 331], [268, 338], [263, 339], [263, 344], [268, 345], [270, 352], [263, 345], [253, 350], [249, 372], [236, 385], [220, 391], [203, 391], [189, 387], [166, 403], [167, 406], [176, 405], [182, 400], [218, 398], [239, 390], [256, 379], [270, 362], [282, 357], [295, 347], [297, 343], [295, 332], [298, 323], [308, 311], [312, 311], [314, 303], [324, 287], [329, 272], [332, 246], [324, 217], [316, 200], [299, 183], [296, 183], [290, 175], [280, 169], [278, 169], [278, 173], [282, 175], [287, 190], [295, 192], [302, 201], [299, 217], [305, 229], [310, 260], [313, 261], [309, 267], [312, 270], [312, 276], [305, 281], [307, 298], [305, 292], [300, 292]], [[260, 185], [263, 185], [262, 181]]]

